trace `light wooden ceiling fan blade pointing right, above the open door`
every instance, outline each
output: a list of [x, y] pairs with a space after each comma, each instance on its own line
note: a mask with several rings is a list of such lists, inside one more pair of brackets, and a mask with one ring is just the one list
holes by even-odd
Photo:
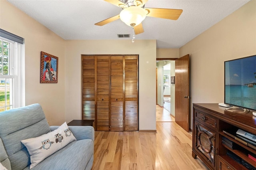
[[178, 20], [183, 10], [165, 9], [165, 8], [144, 8], [148, 11], [147, 16], [164, 18], [169, 20]]

